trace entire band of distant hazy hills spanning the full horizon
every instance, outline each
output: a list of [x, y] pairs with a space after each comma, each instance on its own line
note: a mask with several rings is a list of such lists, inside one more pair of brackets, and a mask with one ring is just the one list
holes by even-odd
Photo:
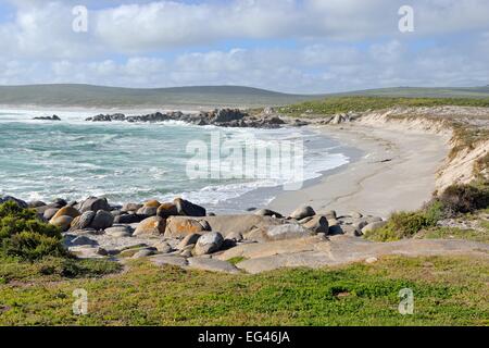
[[489, 86], [466, 88], [397, 87], [341, 94], [291, 95], [240, 86], [121, 88], [91, 85], [0, 86], [0, 104], [89, 108], [265, 107], [338, 96], [489, 98]]

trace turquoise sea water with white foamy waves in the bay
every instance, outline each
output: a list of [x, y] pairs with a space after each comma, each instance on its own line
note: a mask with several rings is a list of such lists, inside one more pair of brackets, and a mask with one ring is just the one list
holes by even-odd
[[[252, 135], [260, 139], [260, 146], [302, 139], [305, 179], [349, 161], [339, 144], [310, 129], [220, 129], [183, 123], [84, 121], [97, 113], [0, 110], [0, 196], [49, 201], [57, 197], [79, 200], [91, 195], [104, 196], [113, 203], [153, 198], [165, 201], [183, 196], [220, 211], [230, 199], [284, 183], [283, 177], [189, 179], [186, 169], [192, 153], [187, 152], [187, 145], [192, 140], [210, 145], [216, 132], [222, 139]], [[32, 120], [52, 114], [62, 121]], [[247, 204], [260, 207], [272, 198], [263, 196]]]

